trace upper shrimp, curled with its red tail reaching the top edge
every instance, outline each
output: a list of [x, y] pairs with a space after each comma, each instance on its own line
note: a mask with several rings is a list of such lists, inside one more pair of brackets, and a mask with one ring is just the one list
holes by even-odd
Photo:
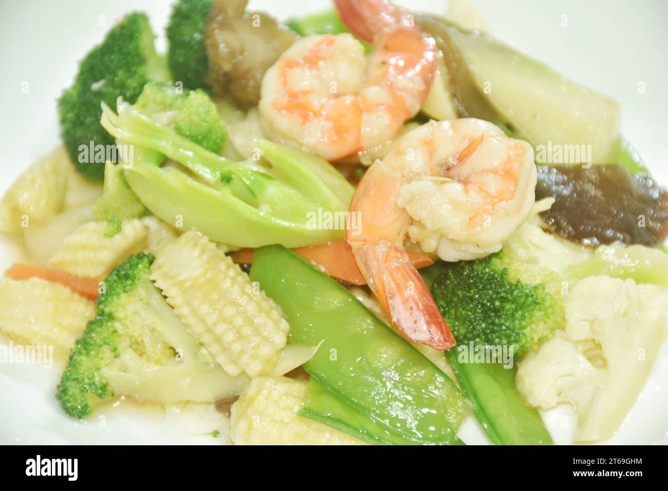
[[329, 161], [391, 140], [420, 110], [438, 63], [436, 43], [387, 0], [335, 2], [374, 43], [367, 60], [353, 35], [311, 35], [265, 73], [260, 112], [276, 138]]

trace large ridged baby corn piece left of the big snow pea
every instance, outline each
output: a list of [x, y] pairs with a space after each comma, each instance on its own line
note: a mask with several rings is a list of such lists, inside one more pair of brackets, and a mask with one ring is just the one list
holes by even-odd
[[289, 326], [216, 244], [192, 230], [158, 251], [151, 279], [186, 329], [232, 376], [269, 373]]

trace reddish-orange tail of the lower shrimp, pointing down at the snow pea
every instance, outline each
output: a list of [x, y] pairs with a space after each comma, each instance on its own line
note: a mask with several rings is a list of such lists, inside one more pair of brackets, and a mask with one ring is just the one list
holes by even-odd
[[382, 240], [375, 247], [359, 248], [355, 259], [374, 295], [405, 337], [436, 349], [456, 345], [427, 285], [403, 247]]

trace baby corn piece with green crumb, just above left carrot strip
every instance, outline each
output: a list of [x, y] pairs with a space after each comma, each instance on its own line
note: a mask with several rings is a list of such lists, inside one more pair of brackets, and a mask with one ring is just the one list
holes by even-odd
[[88, 222], [65, 237], [63, 245], [49, 261], [49, 267], [77, 276], [103, 277], [127, 257], [146, 245], [142, 220], [123, 220], [120, 232], [107, 236], [108, 222]]

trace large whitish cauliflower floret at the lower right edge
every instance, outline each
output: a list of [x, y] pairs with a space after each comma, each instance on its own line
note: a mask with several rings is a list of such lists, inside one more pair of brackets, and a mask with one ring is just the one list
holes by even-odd
[[668, 331], [668, 295], [653, 285], [606, 276], [577, 283], [566, 327], [518, 368], [526, 401], [578, 412], [576, 442], [613, 436], [635, 403]]

